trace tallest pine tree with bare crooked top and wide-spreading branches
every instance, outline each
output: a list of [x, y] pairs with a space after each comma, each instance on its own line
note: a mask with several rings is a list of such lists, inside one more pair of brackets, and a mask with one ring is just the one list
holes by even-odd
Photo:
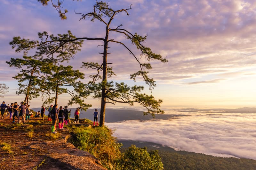
[[[57, 1], [56, 4], [52, 0], [38, 0], [43, 5], [48, 5], [51, 2], [53, 7], [59, 12], [61, 19], [66, 19], [65, 13], [61, 11], [62, 1]], [[156, 100], [154, 96], [142, 93], [144, 90], [143, 86], [134, 85], [128, 86], [124, 82], [114, 82], [113, 80], [108, 81], [111, 76], [115, 75], [111, 67], [108, 67], [108, 54], [109, 45], [111, 43], [119, 44], [121, 47], [127, 50], [127, 53], [134, 58], [134, 62], [138, 63], [139, 70], [130, 75], [133, 81], [137, 80], [137, 77], [141, 77], [144, 82], [148, 85], [150, 90], [156, 86], [155, 81], [148, 76], [148, 70], [152, 68], [150, 61], [158, 60], [160, 62], [167, 62], [160, 54], [153, 53], [151, 49], [143, 45], [143, 42], [147, 39], [147, 36], [141, 36], [139, 34], [129, 32], [122, 28], [122, 24], [119, 26], [111, 25], [116, 15], [125, 13], [129, 15], [128, 11], [132, 9], [132, 5], [126, 9], [114, 10], [108, 3], [103, 1], [96, 1], [93, 6], [93, 10], [88, 13], [77, 13], [81, 16], [80, 20], [90, 19], [92, 22], [95, 20], [100, 21], [105, 27], [104, 37], [76, 37], [68, 31], [68, 34], [58, 34], [58, 36], [48, 35], [47, 32], [38, 33], [40, 40], [29, 40], [20, 39], [20, 37], [14, 37], [13, 41], [10, 42], [13, 48], [16, 48], [16, 52], [23, 51], [26, 53], [28, 50], [35, 48], [37, 49], [36, 55], [41, 56], [44, 54], [46, 58], [52, 60], [63, 59], [66, 60], [73, 57], [77, 50], [80, 50], [84, 40], [96, 40], [99, 41], [102, 49], [100, 57], [102, 57], [102, 63], [83, 62], [84, 68], [95, 69], [96, 73], [89, 76], [91, 80], [84, 86], [83, 92], [80, 91], [77, 98], [86, 98], [88, 95], [92, 95], [94, 98], [101, 99], [100, 107], [100, 126], [104, 125], [105, 122], [105, 109], [106, 103], [127, 103], [133, 105], [139, 103], [147, 111], [144, 114], [150, 114], [154, 116], [155, 113], [164, 113], [160, 109], [162, 100]], [[119, 37], [124, 37], [124, 40], [130, 40], [131, 44], [136, 46], [137, 50], [140, 51], [140, 55], [136, 55], [135, 51], [129, 48], [122, 40], [112, 38], [110, 32], [119, 34]], [[118, 59], [118, 56], [115, 56]], [[146, 63], [143, 60], [146, 59]]]

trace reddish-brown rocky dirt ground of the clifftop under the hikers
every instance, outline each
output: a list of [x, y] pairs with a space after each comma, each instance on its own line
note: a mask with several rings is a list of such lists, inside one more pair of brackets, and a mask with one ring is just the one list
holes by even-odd
[[[105, 169], [90, 153], [67, 142], [71, 135], [66, 125], [65, 129], [57, 125], [57, 133], [52, 134], [47, 118], [32, 117], [21, 124], [5, 115], [0, 119], [1, 169]], [[4, 144], [10, 148], [5, 149]]]

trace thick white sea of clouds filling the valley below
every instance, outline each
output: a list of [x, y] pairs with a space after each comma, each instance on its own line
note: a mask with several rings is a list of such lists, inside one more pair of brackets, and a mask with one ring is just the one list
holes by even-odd
[[256, 159], [256, 114], [185, 113], [168, 120], [105, 123], [118, 139], [221, 157]]

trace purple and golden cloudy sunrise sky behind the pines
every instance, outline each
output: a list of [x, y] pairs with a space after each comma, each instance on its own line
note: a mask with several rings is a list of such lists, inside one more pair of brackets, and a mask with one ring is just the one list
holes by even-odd
[[[5, 61], [21, 58], [9, 42], [14, 36], [37, 39], [37, 32], [54, 35], [67, 33], [76, 37], [103, 37], [104, 25], [98, 21], [79, 20], [78, 13], [92, 11], [96, 1], [65, 0], [67, 20], [61, 20], [51, 6], [43, 6], [35, 0], [0, 1], [0, 83], [10, 87], [4, 95], [6, 103], [24, 99], [17, 96], [18, 82], [12, 78], [19, 70], [9, 67]], [[256, 2], [254, 0], [109, 0], [114, 10], [129, 8], [129, 16], [121, 13], [113, 20], [112, 28], [122, 28], [132, 33], [147, 35], [144, 43], [154, 53], [169, 61], [151, 62], [149, 76], [156, 81], [152, 94], [163, 99], [163, 107], [239, 108], [255, 106], [256, 82]], [[123, 36], [110, 35], [128, 43]], [[100, 42], [86, 41], [80, 52], [69, 64], [81, 69], [82, 62], [101, 62], [97, 47]], [[108, 61], [117, 74], [112, 80], [129, 85], [145, 85], [133, 82], [130, 74], [139, 70], [134, 58], [122, 46], [110, 44]], [[139, 55], [136, 47], [128, 45]], [[145, 85], [145, 89], [147, 85]], [[146, 93], [151, 93], [145, 90]], [[64, 103], [68, 96], [60, 96]], [[92, 107], [99, 107], [100, 100], [86, 100]], [[31, 104], [40, 107], [40, 97]], [[120, 105], [117, 105], [120, 106]], [[113, 105], [107, 105], [113, 107]]]

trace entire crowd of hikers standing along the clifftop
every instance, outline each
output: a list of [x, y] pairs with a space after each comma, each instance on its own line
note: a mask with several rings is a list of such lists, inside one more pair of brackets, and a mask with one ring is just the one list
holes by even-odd
[[[15, 117], [18, 118], [18, 123], [25, 123], [25, 120], [29, 120], [30, 117], [33, 116], [33, 113], [30, 110], [30, 105], [24, 102], [20, 102], [20, 105], [18, 105], [17, 102], [11, 103], [11, 105], [6, 105], [5, 102], [1, 104], [1, 119], [4, 119], [4, 113], [6, 113], [6, 117], [10, 116], [10, 120], [13, 119], [12, 123], [15, 123]], [[79, 114], [80, 114], [80, 108], [76, 108], [74, 117], [75, 117], [75, 124], [79, 123]], [[44, 120], [44, 113], [45, 113], [45, 107], [41, 106], [41, 112], [38, 110], [36, 112], [35, 117], [42, 117]], [[69, 122], [69, 114], [71, 113], [71, 109], [68, 111], [68, 106], [64, 107], [64, 110], [62, 106], [58, 108], [58, 104], [51, 105], [48, 109], [48, 121], [52, 121], [52, 133], [56, 133], [56, 126], [57, 123], [59, 124], [59, 129], [64, 129], [64, 124], [67, 125]], [[93, 113], [94, 119], [93, 119], [93, 126], [95, 126], [95, 120], [96, 125], [98, 126], [98, 116], [99, 112], [97, 109], [95, 109], [95, 112]]]

